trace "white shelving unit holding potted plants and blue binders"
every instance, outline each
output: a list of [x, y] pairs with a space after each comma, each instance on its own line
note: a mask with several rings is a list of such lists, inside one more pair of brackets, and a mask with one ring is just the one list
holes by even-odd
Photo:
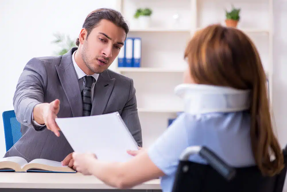
[[[144, 147], [148, 147], [167, 128], [168, 118], [183, 111], [174, 87], [182, 83], [187, 63], [183, 59], [192, 34], [209, 24], [224, 24], [225, 9], [241, 8], [238, 29], [255, 43], [269, 79], [272, 105], [273, 75], [273, 1], [272, 0], [119, 0], [118, 10], [130, 24], [128, 37], [142, 41], [141, 67], [117, 67], [115, 70], [134, 80]], [[137, 27], [133, 18], [137, 8], [153, 10], [150, 28]], [[180, 24], [172, 26], [172, 15], [179, 14]]]

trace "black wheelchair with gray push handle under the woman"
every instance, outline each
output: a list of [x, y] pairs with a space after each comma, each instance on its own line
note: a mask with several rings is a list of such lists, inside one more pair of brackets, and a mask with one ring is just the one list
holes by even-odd
[[[198, 153], [208, 164], [188, 161]], [[187, 147], [181, 154], [172, 192], [282, 192], [286, 177], [287, 145], [283, 149], [284, 169], [263, 176], [257, 166], [232, 168], [207, 147]]]

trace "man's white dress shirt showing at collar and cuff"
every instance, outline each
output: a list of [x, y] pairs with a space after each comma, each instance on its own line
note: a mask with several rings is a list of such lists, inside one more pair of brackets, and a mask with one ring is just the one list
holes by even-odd
[[[92, 75], [87, 75], [87, 74], [78, 66], [78, 64], [76, 63], [76, 61], [75, 61], [75, 53], [76, 53], [76, 51], [74, 51], [74, 53], [72, 54], [72, 61], [73, 61], [73, 65], [74, 65], [74, 68], [75, 68], [75, 71], [76, 71], [76, 74], [77, 74], [77, 78], [78, 78], [78, 81], [79, 81], [80, 91], [82, 92], [82, 91], [83, 91], [83, 88], [84, 88], [84, 80], [83, 80], [83, 77], [84, 77], [84, 76], [93, 76], [93, 77], [95, 78], [95, 81], [93, 82], [93, 85], [92, 85], [92, 88], [91, 88], [91, 102], [93, 103], [94, 87], [95, 87], [96, 81], [98, 80], [99, 74], [94, 73], [94, 74], [92, 74]], [[83, 86], [81, 86], [81, 84], [82, 84]], [[34, 120], [33, 112], [32, 112], [32, 122], [34, 123], [34, 126], [45, 126], [45, 124], [38, 124], [38, 123]]]

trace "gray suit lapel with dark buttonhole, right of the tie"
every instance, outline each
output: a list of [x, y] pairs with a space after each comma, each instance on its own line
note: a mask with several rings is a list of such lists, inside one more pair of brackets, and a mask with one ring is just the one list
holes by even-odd
[[103, 114], [108, 103], [108, 99], [110, 98], [110, 94], [113, 91], [114, 84], [115, 79], [110, 78], [107, 70], [99, 75], [94, 88], [91, 115]]

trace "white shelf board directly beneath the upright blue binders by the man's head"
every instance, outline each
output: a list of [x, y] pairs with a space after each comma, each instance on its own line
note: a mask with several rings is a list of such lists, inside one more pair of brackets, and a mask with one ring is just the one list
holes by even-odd
[[151, 67], [119, 67], [119, 72], [184, 72], [185, 69], [165, 69], [165, 68], [151, 68]]

